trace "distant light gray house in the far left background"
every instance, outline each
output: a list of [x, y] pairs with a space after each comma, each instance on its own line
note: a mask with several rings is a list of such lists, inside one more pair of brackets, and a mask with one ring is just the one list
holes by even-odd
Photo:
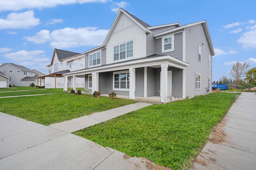
[[0, 65], [0, 71], [9, 78], [11, 86], [30, 86], [31, 83], [36, 84], [35, 73], [24, 66], [4, 63]]

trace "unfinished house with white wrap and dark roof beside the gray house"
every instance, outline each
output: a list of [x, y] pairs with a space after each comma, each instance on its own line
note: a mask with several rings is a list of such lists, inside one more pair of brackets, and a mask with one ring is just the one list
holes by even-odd
[[[49, 64], [47, 68], [48, 75], [39, 76], [38, 82], [45, 80], [46, 88], [63, 88], [63, 79], [60, 80], [59, 77], [63, 77], [62, 74], [70, 71], [84, 69], [85, 55], [60, 49], [54, 49], [51, 64]], [[56, 80], [56, 78], [58, 80]], [[68, 87], [73, 87], [72, 79], [72, 77], [68, 78]], [[84, 87], [84, 76], [82, 78], [76, 78], [76, 86]]]

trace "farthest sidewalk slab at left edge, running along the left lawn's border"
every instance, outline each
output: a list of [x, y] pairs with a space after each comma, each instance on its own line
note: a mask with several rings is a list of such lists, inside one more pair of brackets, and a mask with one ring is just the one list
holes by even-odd
[[[10, 116], [8, 115], [6, 115], [6, 117], [7, 119], [10, 118]], [[1, 117], [1, 118], [4, 121], [4, 117]], [[44, 127], [44, 125], [41, 125], [39, 123], [34, 123], [32, 121], [27, 121], [25, 119], [21, 121], [19, 118], [17, 118], [16, 123], [12, 123], [12, 121], [10, 121], [9, 124], [5, 124], [5, 125], [0, 124], [0, 139], [4, 137], [16, 135], [19, 133], [23, 133], [26, 131], [38, 129], [41, 127]]]

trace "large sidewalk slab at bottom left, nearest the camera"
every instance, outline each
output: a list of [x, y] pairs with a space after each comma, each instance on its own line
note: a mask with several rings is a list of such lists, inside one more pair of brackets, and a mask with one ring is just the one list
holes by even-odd
[[[104, 148], [73, 134], [66, 134], [0, 160], [2, 170], [93, 170], [114, 149]], [[118, 161], [118, 160], [116, 160]]]

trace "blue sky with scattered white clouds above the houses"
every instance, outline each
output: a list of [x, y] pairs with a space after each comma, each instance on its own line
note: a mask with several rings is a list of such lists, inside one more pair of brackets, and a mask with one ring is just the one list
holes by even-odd
[[54, 48], [82, 53], [102, 45], [119, 8], [151, 26], [206, 20], [214, 46], [213, 80], [236, 61], [256, 67], [256, 1], [1, 0], [0, 64], [47, 73]]

